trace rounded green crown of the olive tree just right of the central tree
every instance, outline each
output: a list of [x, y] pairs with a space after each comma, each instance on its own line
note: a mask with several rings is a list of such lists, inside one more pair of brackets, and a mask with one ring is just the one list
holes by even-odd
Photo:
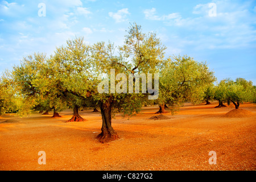
[[206, 63], [199, 63], [187, 55], [169, 58], [162, 65], [159, 76], [158, 104], [179, 107], [185, 101], [204, 99], [204, 92], [216, 78]]

